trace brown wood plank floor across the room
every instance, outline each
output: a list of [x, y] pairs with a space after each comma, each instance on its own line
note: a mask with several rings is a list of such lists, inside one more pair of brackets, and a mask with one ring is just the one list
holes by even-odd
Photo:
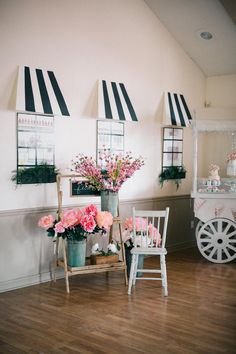
[[[153, 259], [145, 260], [153, 263]], [[236, 353], [236, 263], [197, 249], [168, 254], [169, 297], [122, 272], [61, 279], [0, 294], [0, 353]]]

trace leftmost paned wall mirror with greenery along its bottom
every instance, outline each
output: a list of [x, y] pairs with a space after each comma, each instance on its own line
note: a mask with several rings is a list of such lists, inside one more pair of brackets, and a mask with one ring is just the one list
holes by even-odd
[[[54, 167], [54, 117], [18, 113], [17, 183], [55, 182]], [[38, 179], [36, 174], [45, 178]]]

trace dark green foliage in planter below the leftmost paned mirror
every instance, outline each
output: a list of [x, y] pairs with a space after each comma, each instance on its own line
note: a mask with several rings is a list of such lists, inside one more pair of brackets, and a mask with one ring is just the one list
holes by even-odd
[[33, 167], [18, 168], [13, 171], [11, 180], [17, 184], [38, 184], [38, 183], [54, 183], [58, 170], [54, 165], [42, 163]]

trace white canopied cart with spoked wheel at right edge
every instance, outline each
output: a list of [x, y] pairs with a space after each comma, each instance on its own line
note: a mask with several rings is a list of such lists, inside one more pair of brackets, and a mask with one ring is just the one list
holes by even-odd
[[[203, 133], [205, 137], [200, 138]], [[197, 218], [195, 234], [200, 253], [213, 263], [228, 263], [236, 258], [236, 176], [226, 177], [226, 155], [232, 148], [235, 149], [235, 137], [236, 120], [194, 121], [191, 197], [194, 198], [194, 214]], [[214, 140], [212, 148], [210, 143]], [[225, 147], [227, 150], [227, 143], [230, 150], [224, 151]], [[210, 155], [208, 160], [207, 153]], [[202, 162], [200, 156], [206, 158], [206, 162]], [[207, 163], [221, 164], [219, 186], [209, 185]]]

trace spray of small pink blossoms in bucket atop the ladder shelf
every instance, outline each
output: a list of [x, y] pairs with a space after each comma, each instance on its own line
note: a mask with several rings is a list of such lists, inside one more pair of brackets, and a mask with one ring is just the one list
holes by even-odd
[[133, 158], [129, 152], [124, 156], [100, 152], [99, 163], [92, 157], [79, 154], [72, 161], [72, 170], [89, 181], [97, 191], [118, 192], [122, 184], [144, 165], [142, 157]]

